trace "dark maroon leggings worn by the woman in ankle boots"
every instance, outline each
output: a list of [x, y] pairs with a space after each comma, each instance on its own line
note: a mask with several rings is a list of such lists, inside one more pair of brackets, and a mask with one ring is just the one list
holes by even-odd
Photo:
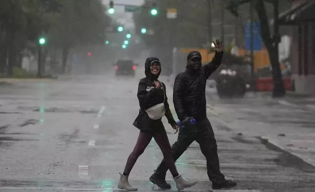
[[128, 157], [126, 167], [124, 170], [124, 175], [129, 175], [131, 169], [134, 167], [138, 157], [144, 152], [144, 149], [151, 142], [152, 138], [157, 142], [159, 148], [163, 153], [166, 166], [171, 171], [173, 177], [178, 176], [178, 172], [173, 160], [171, 145], [168, 141], [168, 137], [164, 128], [161, 128], [159, 131], [149, 132], [149, 131], [140, 131], [137, 143], [133, 152]]

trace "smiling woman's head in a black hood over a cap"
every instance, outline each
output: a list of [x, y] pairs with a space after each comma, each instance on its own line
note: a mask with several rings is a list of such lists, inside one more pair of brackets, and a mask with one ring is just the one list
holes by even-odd
[[145, 76], [151, 80], [157, 80], [162, 70], [158, 57], [148, 57], [145, 60], [144, 68]]

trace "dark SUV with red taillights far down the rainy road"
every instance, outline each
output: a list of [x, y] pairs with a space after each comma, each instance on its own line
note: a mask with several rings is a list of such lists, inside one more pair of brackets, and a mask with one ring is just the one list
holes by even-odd
[[133, 60], [125, 59], [118, 60], [115, 64], [115, 74], [118, 75], [131, 75], [135, 77], [135, 69], [138, 64], [135, 64]]

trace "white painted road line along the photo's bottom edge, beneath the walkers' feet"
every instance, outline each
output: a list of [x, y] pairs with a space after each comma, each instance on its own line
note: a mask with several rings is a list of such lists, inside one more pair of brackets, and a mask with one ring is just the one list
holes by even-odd
[[[118, 188], [41, 188], [41, 187], [0, 187], [2, 190], [22, 189], [22, 190], [59, 190], [59, 191], [121, 191]], [[139, 190], [148, 190], [148, 188], [138, 188]], [[149, 190], [151, 191], [151, 190]], [[216, 192], [262, 192], [260, 190], [215, 190]], [[204, 190], [194, 190], [193, 192], [204, 192]]]

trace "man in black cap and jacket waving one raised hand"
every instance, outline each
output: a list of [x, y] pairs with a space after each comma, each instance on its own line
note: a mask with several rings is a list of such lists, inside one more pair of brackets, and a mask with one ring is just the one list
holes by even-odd
[[[206, 80], [220, 66], [223, 56], [222, 42], [216, 40], [213, 44], [216, 53], [210, 63], [202, 66], [200, 52], [191, 51], [187, 56], [185, 72], [180, 72], [175, 78], [173, 102], [177, 116], [185, 127], [180, 130], [178, 139], [172, 146], [172, 154], [176, 161], [191, 143], [198, 142], [206, 158], [207, 174], [212, 181], [212, 188], [223, 189], [235, 187], [236, 183], [226, 180], [220, 171], [217, 142], [206, 116]], [[189, 124], [191, 118], [195, 118], [196, 125]], [[162, 189], [170, 189], [171, 186], [165, 181], [167, 169], [162, 160], [150, 181]]]

